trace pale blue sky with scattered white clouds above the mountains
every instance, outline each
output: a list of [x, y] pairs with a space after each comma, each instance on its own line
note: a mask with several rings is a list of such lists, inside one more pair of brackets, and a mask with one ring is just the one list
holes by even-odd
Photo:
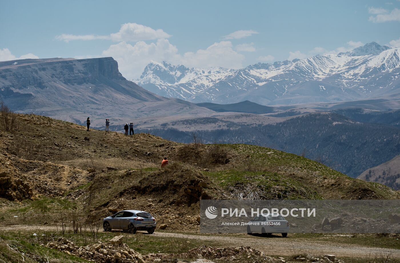
[[112, 56], [128, 79], [163, 60], [187, 67], [400, 47], [400, 1], [0, 0], [0, 61]]

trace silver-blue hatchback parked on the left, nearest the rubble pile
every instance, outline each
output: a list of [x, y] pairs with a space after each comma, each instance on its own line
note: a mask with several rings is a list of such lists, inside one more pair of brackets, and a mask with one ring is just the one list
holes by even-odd
[[156, 219], [150, 213], [141, 210], [124, 210], [103, 219], [104, 231], [122, 229], [129, 233], [146, 230], [149, 234], [156, 229]]

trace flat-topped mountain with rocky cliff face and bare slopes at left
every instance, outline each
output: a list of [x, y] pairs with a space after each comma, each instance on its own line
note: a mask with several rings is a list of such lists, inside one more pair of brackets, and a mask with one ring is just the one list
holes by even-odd
[[[0, 99], [18, 112], [76, 123], [90, 116], [127, 118], [190, 112], [195, 105], [167, 99], [126, 80], [113, 58], [26, 59], [0, 62]], [[202, 110], [204, 111], [204, 109]], [[132, 119], [131, 119], [132, 120]]]

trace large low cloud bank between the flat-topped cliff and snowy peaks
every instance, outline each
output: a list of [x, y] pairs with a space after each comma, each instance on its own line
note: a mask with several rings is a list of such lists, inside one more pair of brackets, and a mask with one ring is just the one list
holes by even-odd
[[138, 78], [150, 60], [166, 60], [172, 64], [183, 64], [188, 67], [207, 68], [220, 66], [224, 68], [242, 68], [244, 56], [233, 50], [230, 41], [216, 42], [205, 50], [186, 52], [181, 55], [178, 48], [167, 39], [156, 43], [136, 42], [134, 46], [126, 42], [111, 45], [102, 52], [102, 56], [113, 57], [122, 75], [128, 79]]

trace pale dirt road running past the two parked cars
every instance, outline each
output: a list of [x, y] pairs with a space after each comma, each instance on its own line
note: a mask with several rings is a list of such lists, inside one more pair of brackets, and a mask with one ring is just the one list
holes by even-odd
[[[0, 232], [2, 231], [15, 231], [15, 230], [26, 230], [26, 231], [38, 231], [38, 230], [53, 230], [58, 231], [54, 226], [43, 226], [43, 225], [13, 225], [13, 226], [0, 226]], [[362, 245], [354, 244], [340, 244], [329, 241], [320, 241], [316, 243], [312, 239], [302, 238], [291, 238], [290, 234], [288, 237], [283, 238], [280, 235], [272, 235], [271, 237], [263, 237], [261, 235], [195, 235], [191, 233], [170, 233], [156, 231], [152, 234], [157, 237], [182, 237], [188, 239], [204, 240], [204, 244], [207, 245], [207, 241], [217, 241], [221, 247], [238, 247], [238, 246], [250, 246], [252, 248], [264, 251], [266, 255], [294, 255], [294, 254], [312, 254], [312, 255], [325, 255], [334, 254], [338, 257], [380, 257], [381, 255], [390, 254], [394, 258], [400, 259], [400, 241], [399, 249], [388, 249], [379, 247], [367, 247]], [[396, 240], [397, 241], [397, 240]]]

